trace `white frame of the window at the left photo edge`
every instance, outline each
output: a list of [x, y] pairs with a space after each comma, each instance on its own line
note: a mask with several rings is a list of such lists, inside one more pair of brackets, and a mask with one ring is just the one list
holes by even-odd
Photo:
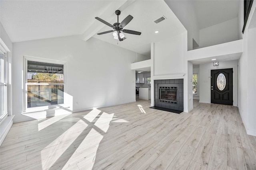
[[1, 82], [0, 80], [0, 86], [5, 86], [5, 92], [4, 92], [4, 113], [2, 115], [0, 115], [0, 121], [2, 121], [2, 119], [4, 119], [4, 117], [6, 115], [8, 115], [8, 78], [7, 78], [7, 75], [8, 75], [8, 57], [7, 57], [7, 53], [6, 51], [4, 51], [4, 49], [2, 49], [1, 47], [1, 50], [0, 50], [0, 53], [2, 53], [3, 55], [3, 58], [4, 58], [4, 67], [3, 69], [1, 68], [1, 73], [2, 73], [2, 76], [4, 77], [3, 78], [3, 82]]

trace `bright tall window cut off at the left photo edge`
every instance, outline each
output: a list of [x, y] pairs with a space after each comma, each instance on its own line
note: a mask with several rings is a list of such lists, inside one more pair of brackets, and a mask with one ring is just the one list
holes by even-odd
[[7, 57], [0, 51], [0, 120], [7, 114]]

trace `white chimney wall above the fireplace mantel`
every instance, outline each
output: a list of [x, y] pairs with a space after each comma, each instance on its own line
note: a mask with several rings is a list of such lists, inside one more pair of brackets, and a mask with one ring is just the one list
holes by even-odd
[[184, 73], [183, 34], [154, 43], [154, 76]]

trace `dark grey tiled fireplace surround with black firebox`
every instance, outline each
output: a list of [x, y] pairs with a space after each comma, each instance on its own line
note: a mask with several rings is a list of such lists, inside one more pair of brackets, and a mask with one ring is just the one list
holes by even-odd
[[183, 111], [183, 79], [154, 80], [155, 106]]

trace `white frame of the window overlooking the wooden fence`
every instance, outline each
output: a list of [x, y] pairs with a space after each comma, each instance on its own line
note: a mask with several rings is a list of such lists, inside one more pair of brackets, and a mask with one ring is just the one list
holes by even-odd
[[[50, 106], [38, 106], [38, 107], [30, 107], [28, 108], [28, 86], [33, 83], [28, 83], [28, 61], [36, 61], [36, 62], [43, 62], [43, 63], [52, 63], [52, 64], [62, 64], [63, 65], [63, 84], [64, 85], [64, 104], [57, 104], [57, 105], [50, 105]], [[36, 111], [44, 111], [46, 109], [54, 108], [56, 106], [60, 107], [67, 107], [66, 106], [66, 94], [67, 94], [67, 87], [66, 87], [66, 81], [67, 81], [67, 62], [66, 61], [57, 61], [52, 59], [45, 59], [45, 58], [39, 58], [39, 57], [31, 57], [31, 56], [23, 56], [23, 113], [30, 113], [30, 112], [36, 112]], [[56, 85], [58, 83], [54, 83]], [[50, 83], [40, 83], [40, 85], [52, 85]]]

